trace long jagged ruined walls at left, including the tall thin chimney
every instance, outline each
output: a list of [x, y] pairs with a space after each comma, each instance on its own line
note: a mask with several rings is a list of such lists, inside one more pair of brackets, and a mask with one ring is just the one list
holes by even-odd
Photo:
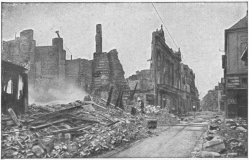
[[29, 85], [42, 89], [43, 92], [48, 87], [58, 89], [67, 86], [66, 84], [73, 84], [98, 96], [102, 96], [102, 92], [107, 93], [111, 85], [116, 92], [122, 89], [128, 93], [118, 52], [102, 52], [101, 25], [98, 24], [96, 28], [96, 52], [93, 60], [72, 59], [72, 56], [67, 60], [63, 38], [58, 32], [58, 37], [52, 39], [51, 46], [36, 46], [31, 29], [22, 31], [20, 37], [15, 37], [14, 40], [3, 41], [2, 60], [27, 68]]

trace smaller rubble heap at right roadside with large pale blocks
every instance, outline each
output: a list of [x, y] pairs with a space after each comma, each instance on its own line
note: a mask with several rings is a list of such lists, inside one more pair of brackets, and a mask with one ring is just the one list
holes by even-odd
[[248, 154], [247, 119], [211, 120], [204, 133], [201, 148], [195, 150], [198, 158], [246, 158]]

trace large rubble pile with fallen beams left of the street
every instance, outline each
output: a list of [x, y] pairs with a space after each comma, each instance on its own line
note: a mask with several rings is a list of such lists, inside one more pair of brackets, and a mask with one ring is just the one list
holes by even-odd
[[94, 102], [31, 105], [29, 113], [2, 115], [1, 158], [82, 158], [153, 134], [140, 116]]

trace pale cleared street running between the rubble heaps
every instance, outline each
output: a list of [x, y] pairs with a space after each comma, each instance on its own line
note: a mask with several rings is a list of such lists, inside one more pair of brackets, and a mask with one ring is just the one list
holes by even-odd
[[[213, 117], [209, 115], [200, 115], [195, 119], [203, 118], [204, 122], [190, 122], [178, 125], [159, 126], [158, 136], [153, 136], [133, 144], [130, 148], [100, 157], [110, 158], [190, 158], [191, 151], [196, 143], [207, 130], [207, 119]], [[206, 119], [206, 120], [205, 120]]]

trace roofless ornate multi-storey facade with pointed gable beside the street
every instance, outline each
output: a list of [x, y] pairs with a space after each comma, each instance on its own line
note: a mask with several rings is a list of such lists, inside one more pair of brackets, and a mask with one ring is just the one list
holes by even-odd
[[138, 92], [145, 103], [166, 107], [172, 113], [185, 113], [200, 106], [193, 70], [181, 63], [180, 50], [174, 52], [165, 43], [162, 27], [152, 33], [150, 69], [130, 76], [128, 83], [131, 89], [139, 84]]

